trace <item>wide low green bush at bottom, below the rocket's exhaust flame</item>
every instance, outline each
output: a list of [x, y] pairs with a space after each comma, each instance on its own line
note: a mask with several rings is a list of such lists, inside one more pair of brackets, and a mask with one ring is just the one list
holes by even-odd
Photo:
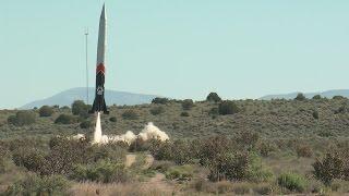
[[129, 181], [124, 166], [111, 161], [98, 161], [87, 166], [77, 164], [70, 177], [80, 182], [124, 183]]

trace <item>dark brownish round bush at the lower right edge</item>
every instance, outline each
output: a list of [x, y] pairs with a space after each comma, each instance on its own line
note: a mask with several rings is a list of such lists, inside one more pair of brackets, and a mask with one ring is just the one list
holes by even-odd
[[340, 179], [344, 170], [344, 161], [338, 155], [326, 154], [323, 160], [313, 163], [315, 179], [329, 186], [335, 179]]

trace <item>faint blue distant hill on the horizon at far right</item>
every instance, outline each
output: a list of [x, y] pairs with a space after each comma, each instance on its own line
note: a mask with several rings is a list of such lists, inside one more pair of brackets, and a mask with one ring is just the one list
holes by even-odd
[[[261, 97], [262, 100], [270, 100], [270, 99], [294, 99], [299, 93], [291, 94], [279, 94], [279, 95], [267, 95]], [[336, 90], [327, 90], [323, 93], [303, 93], [306, 98], [312, 98], [315, 95], [321, 95], [322, 97], [333, 98], [334, 96], [344, 96], [349, 98], [349, 89], [336, 89]]]

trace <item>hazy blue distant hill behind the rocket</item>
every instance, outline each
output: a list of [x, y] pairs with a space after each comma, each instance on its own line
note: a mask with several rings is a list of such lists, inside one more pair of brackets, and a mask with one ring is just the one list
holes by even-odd
[[[92, 105], [95, 98], [95, 88], [88, 89], [89, 94], [89, 103]], [[143, 94], [132, 94], [125, 91], [116, 91], [116, 90], [106, 90], [106, 102], [107, 105], [142, 105], [142, 103], [149, 103], [152, 100], [158, 96], [155, 95], [143, 95]], [[34, 107], [41, 107], [41, 106], [71, 106], [74, 100], [86, 100], [86, 88], [72, 88], [53, 95], [47, 99], [36, 100], [29, 102], [21, 109], [32, 109]]]

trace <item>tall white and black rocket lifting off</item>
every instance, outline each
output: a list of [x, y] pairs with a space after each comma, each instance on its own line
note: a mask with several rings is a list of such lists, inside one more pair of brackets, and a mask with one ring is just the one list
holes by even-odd
[[109, 114], [105, 100], [105, 74], [106, 74], [106, 35], [107, 35], [107, 19], [106, 5], [103, 5], [100, 20], [99, 20], [99, 34], [97, 46], [97, 68], [96, 68], [96, 94], [95, 100], [89, 113], [104, 112]]

